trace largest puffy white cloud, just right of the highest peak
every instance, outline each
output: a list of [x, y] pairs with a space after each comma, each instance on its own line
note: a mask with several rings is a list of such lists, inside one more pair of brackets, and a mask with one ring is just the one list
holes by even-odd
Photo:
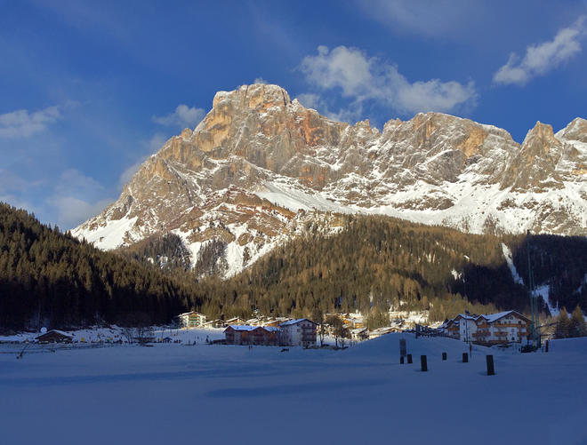
[[[357, 48], [318, 46], [318, 55], [302, 60], [301, 70], [310, 83], [323, 90], [340, 88], [342, 96], [360, 106], [374, 100], [402, 113], [449, 112], [477, 98], [475, 84], [431, 79], [410, 83], [398, 67], [370, 58]], [[310, 98], [308, 98], [310, 99]]]

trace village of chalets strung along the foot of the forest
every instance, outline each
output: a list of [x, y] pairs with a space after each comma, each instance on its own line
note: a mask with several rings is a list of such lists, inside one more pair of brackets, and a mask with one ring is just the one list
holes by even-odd
[[[97, 337], [92, 336], [92, 330], [85, 330], [85, 334], [83, 331], [42, 330], [40, 335], [33, 338], [27, 337], [26, 341], [39, 344], [183, 343], [196, 345], [207, 343], [236, 346], [344, 348], [392, 332], [406, 332], [428, 337], [454, 338], [479, 346], [509, 346], [527, 343], [531, 333], [531, 321], [513, 310], [497, 314], [457, 314], [446, 322], [435, 323], [431, 326], [415, 322], [422, 320], [422, 314], [407, 317], [394, 319], [390, 322], [390, 326], [369, 330], [361, 314], [330, 314], [326, 317], [326, 322], [318, 323], [305, 318], [263, 316], [248, 320], [233, 317], [226, 321], [207, 321], [205, 314], [190, 311], [179, 314], [173, 326], [170, 327], [141, 329], [115, 327], [110, 330], [98, 330]], [[333, 342], [334, 345], [332, 345]]]

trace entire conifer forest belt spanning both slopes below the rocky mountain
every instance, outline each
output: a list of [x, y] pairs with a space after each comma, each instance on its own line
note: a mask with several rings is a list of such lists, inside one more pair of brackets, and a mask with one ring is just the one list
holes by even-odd
[[304, 236], [221, 281], [189, 271], [188, 252], [175, 235], [103, 252], [0, 204], [0, 328], [166, 323], [189, 309], [209, 318], [360, 311], [372, 321], [389, 309], [430, 310], [430, 321], [464, 310], [527, 313], [527, 288], [514, 281], [502, 243], [525, 282], [530, 246], [535, 282], [550, 286], [552, 304], [587, 307], [584, 238], [496, 237], [386, 217], [343, 219], [342, 230], [330, 235], [309, 223]]

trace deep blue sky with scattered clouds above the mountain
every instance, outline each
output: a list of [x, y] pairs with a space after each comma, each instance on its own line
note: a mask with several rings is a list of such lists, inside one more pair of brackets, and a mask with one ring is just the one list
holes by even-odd
[[216, 91], [262, 80], [381, 128], [442, 111], [521, 142], [587, 117], [587, 2], [0, 0], [0, 201], [71, 228]]

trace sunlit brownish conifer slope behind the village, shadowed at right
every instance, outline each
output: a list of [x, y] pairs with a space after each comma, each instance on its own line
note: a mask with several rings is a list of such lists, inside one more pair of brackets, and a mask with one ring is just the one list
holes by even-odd
[[[533, 261], [549, 258], [535, 267], [535, 282], [551, 282], [555, 301], [587, 307], [579, 294], [567, 293], [569, 287], [578, 289], [587, 273], [585, 241], [551, 235], [532, 239], [531, 245], [542, 246], [532, 251]], [[463, 234], [386, 217], [346, 216], [339, 234], [324, 236], [310, 227], [305, 236], [272, 250], [230, 280], [204, 280], [199, 288], [203, 305], [197, 309], [212, 317], [246, 317], [255, 309], [293, 317], [310, 317], [315, 308], [321, 314], [359, 311], [368, 314], [372, 326], [381, 325], [382, 313], [390, 309], [430, 309], [431, 321], [465, 310], [527, 314], [527, 287], [514, 282], [502, 247], [510, 246], [524, 274], [526, 241], [525, 236]], [[541, 310], [548, 311], [546, 306]]]

